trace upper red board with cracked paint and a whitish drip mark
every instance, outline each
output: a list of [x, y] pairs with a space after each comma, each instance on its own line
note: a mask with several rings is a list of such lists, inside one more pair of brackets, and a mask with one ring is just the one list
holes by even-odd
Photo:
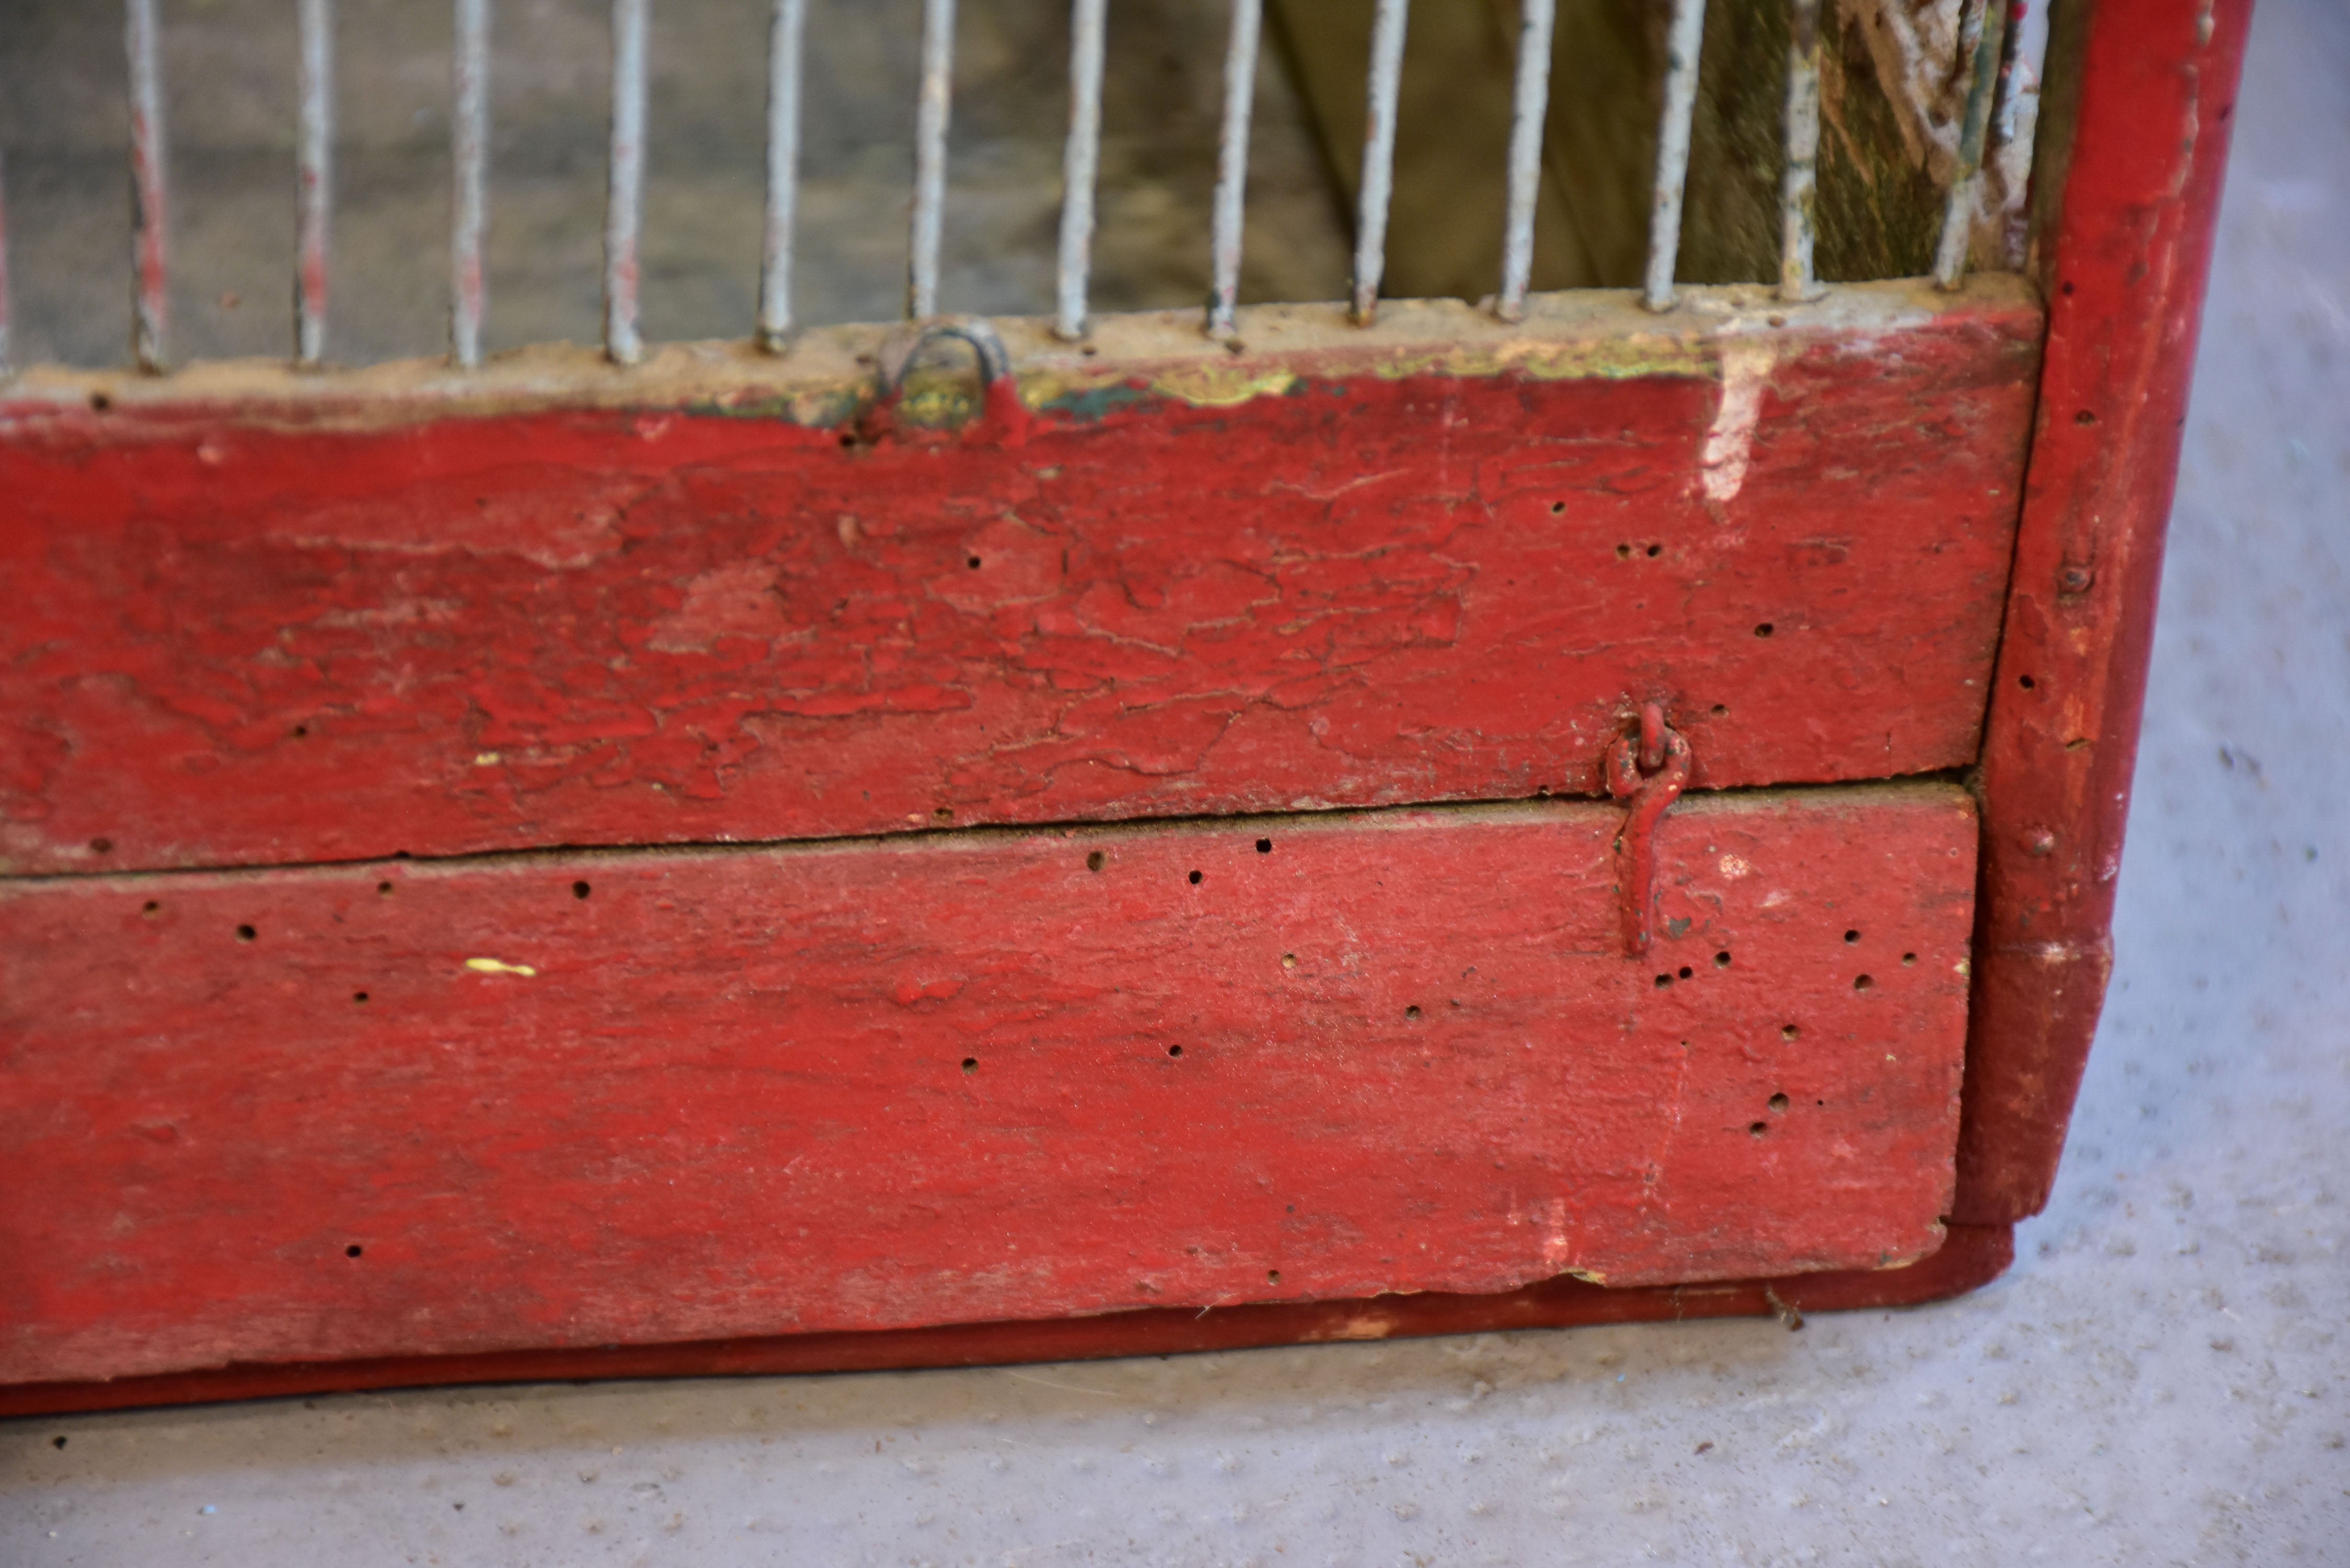
[[1018, 447], [0, 409], [0, 872], [1596, 795], [1643, 701], [1692, 788], [1965, 766], [2037, 308], [1824, 310], [1737, 341], [1751, 430], [1640, 313]]

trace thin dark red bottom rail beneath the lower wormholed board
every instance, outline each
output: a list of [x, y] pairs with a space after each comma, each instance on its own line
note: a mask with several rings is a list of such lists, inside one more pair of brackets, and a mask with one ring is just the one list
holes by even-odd
[[1332, 1340], [1403, 1340], [1582, 1324], [1650, 1324], [1716, 1316], [1772, 1316], [1791, 1328], [1807, 1312], [1915, 1307], [1965, 1295], [1998, 1279], [2016, 1248], [2007, 1225], [1950, 1225], [1941, 1251], [1906, 1267], [1793, 1274], [1706, 1286], [1612, 1291], [1551, 1279], [1506, 1295], [1382, 1295], [1372, 1300], [1283, 1302], [1112, 1312], [1036, 1324], [956, 1324], [881, 1333], [808, 1333], [693, 1345], [609, 1345], [477, 1356], [388, 1356], [223, 1366], [115, 1382], [21, 1382], [0, 1387], [0, 1418], [143, 1406], [287, 1399], [362, 1389], [484, 1382], [583, 1382], [604, 1378], [773, 1378], [785, 1373], [877, 1373], [921, 1366], [1015, 1366], [1102, 1361]]

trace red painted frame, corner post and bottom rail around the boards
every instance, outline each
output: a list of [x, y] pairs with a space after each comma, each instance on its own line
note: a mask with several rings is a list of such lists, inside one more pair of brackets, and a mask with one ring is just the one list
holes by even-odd
[[[0, 1413], [397, 1382], [818, 1371], [1932, 1300], [2005, 1267], [2054, 1180], [2110, 969], [2162, 531], [2249, 0], [2099, 0], [2084, 19], [2035, 447], [1981, 750], [1981, 893], [1950, 1244], [1911, 1269], [1711, 1288], [1553, 1281], [1488, 1298], [1107, 1314], [625, 1352], [223, 1368], [0, 1389]], [[2044, 158], [2054, 169], [2061, 158]]]

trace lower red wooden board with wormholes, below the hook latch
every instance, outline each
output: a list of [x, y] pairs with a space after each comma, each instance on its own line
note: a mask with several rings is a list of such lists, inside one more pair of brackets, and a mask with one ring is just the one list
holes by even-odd
[[1932, 1253], [1967, 795], [1619, 823], [0, 884], [0, 1382]]

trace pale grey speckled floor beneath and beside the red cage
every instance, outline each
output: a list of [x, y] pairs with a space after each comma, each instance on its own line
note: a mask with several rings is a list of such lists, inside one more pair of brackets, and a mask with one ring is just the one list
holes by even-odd
[[2263, 0], [2047, 1215], [1901, 1314], [0, 1425], [0, 1563], [2350, 1563], [2350, 7]]

